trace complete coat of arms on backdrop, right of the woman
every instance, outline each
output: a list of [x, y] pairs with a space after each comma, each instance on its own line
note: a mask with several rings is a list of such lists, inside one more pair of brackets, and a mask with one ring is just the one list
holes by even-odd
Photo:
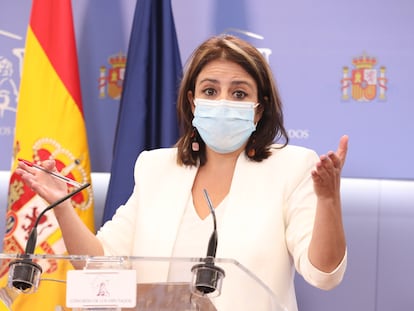
[[387, 90], [385, 78], [385, 67], [375, 68], [377, 60], [366, 54], [356, 57], [352, 60], [354, 69], [349, 76], [349, 68], [343, 68], [342, 99], [349, 100], [349, 90], [351, 89], [351, 97], [360, 102], [369, 102], [377, 96], [380, 100], [385, 100], [385, 92]]

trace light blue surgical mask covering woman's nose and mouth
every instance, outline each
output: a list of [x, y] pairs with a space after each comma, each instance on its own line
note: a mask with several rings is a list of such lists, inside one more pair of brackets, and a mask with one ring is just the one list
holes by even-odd
[[193, 126], [203, 141], [218, 153], [230, 153], [247, 142], [256, 130], [254, 102], [196, 98]]

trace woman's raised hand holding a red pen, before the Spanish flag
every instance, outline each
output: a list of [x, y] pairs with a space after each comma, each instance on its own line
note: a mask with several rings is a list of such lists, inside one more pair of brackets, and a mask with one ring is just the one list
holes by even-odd
[[[38, 165], [48, 171], [58, 173], [55, 160], [45, 160], [38, 163]], [[27, 186], [40, 195], [49, 204], [61, 199], [68, 193], [68, 187], [64, 181], [60, 181], [36, 167], [27, 165], [23, 161], [18, 162], [15, 172], [22, 177], [23, 182]]]

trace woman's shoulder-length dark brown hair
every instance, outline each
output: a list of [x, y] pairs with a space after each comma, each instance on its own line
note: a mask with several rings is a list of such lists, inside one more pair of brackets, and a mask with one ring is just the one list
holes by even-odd
[[[283, 125], [282, 102], [266, 59], [250, 43], [232, 35], [220, 35], [202, 43], [193, 52], [184, 70], [177, 99], [178, 122], [182, 133], [176, 144], [179, 164], [204, 165], [207, 161], [205, 143], [192, 126], [194, 116], [187, 94], [189, 91], [195, 93], [199, 73], [209, 62], [217, 59], [240, 65], [257, 84], [258, 102], [263, 109], [263, 115], [257, 123], [256, 131], [247, 142], [246, 155], [251, 160], [260, 162], [269, 157], [272, 143], [282, 140], [281, 147], [288, 143], [289, 139]], [[194, 135], [199, 142], [199, 151], [193, 151], [191, 148]]]

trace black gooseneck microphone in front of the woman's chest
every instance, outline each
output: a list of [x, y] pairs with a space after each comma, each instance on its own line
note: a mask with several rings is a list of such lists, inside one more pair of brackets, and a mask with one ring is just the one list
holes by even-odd
[[220, 295], [225, 273], [223, 269], [214, 264], [218, 243], [216, 213], [207, 190], [204, 189], [203, 191], [213, 217], [214, 229], [208, 242], [207, 256], [204, 258], [204, 263], [197, 264], [191, 268], [191, 272], [193, 272], [192, 289], [196, 294], [212, 297]]

